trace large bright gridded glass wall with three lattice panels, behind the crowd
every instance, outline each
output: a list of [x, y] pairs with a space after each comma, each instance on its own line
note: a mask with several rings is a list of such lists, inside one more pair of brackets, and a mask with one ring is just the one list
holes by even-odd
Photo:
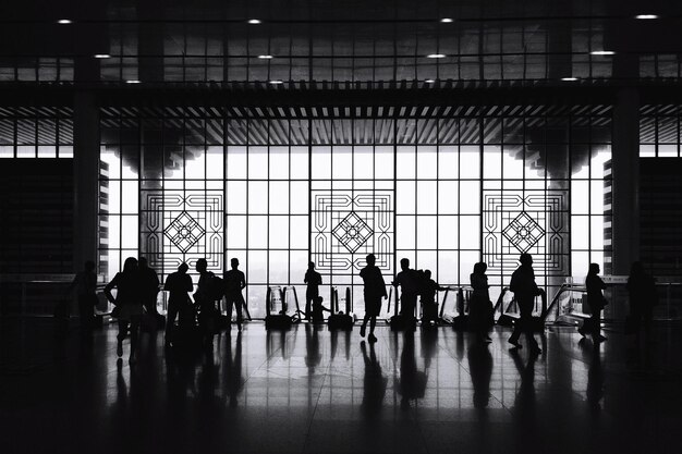
[[442, 285], [467, 285], [485, 260], [496, 298], [527, 251], [538, 284], [556, 287], [605, 260], [610, 124], [608, 107], [300, 119], [102, 109], [100, 261], [113, 275], [144, 255], [165, 278], [183, 260], [206, 257], [218, 273], [236, 257], [254, 317], [268, 286], [303, 299], [309, 260], [325, 299], [350, 286], [362, 314], [368, 253], [387, 282], [409, 258]]

